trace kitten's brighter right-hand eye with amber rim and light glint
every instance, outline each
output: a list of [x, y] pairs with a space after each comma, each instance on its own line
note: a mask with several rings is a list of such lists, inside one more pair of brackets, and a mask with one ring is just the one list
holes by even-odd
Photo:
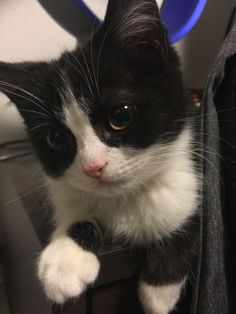
[[113, 130], [124, 130], [133, 122], [135, 112], [135, 107], [131, 105], [121, 105], [112, 108], [108, 115], [108, 123]]

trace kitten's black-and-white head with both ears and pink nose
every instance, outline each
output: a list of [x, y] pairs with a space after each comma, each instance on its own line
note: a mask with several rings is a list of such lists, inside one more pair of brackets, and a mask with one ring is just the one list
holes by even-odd
[[110, 0], [91, 41], [50, 63], [0, 63], [47, 174], [68, 187], [134, 192], [169, 167], [188, 105], [154, 0]]

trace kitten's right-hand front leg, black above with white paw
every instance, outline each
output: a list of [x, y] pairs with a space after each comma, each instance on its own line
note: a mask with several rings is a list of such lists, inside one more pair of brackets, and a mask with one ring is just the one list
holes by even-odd
[[198, 252], [199, 217], [182, 231], [154, 245], [146, 255], [139, 285], [145, 314], [169, 314], [175, 309]]

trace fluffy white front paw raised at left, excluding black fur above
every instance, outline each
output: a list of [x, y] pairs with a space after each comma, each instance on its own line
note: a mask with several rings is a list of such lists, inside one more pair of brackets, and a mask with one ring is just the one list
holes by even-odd
[[53, 241], [42, 252], [38, 276], [47, 297], [57, 303], [79, 296], [93, 283], [100, 263], [95, 254], [85, 251], [70, 238]]

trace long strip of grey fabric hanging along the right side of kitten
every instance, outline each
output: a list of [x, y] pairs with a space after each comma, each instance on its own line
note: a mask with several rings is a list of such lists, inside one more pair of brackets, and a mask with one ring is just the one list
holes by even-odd
[[219, 127], [214, 96], [225, 74], [227, 59], [236, 53], [236, 25], [226, 38], [209, 76], [202, 110], [203, 122], [203, 214], [198, 271], [193, 291], [194, 314], [227, 314], [228, 287], [225, 276], [224, 224], [220, 202]]

